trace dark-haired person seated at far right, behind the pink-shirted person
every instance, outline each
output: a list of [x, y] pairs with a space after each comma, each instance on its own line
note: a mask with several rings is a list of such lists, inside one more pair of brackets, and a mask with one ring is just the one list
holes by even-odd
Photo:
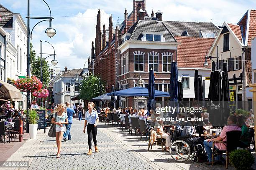
[[[242, 130], [241, 138], [251, 138], [250, 132], [246, 126], [246, 117], [244, 115], [240, 115], [237, 117], [238, 120], [238, 126]], [[238, 143], [239, 148], [245, 148], [249, 144], [249, 141], [246, 139], [241, 139]]]

